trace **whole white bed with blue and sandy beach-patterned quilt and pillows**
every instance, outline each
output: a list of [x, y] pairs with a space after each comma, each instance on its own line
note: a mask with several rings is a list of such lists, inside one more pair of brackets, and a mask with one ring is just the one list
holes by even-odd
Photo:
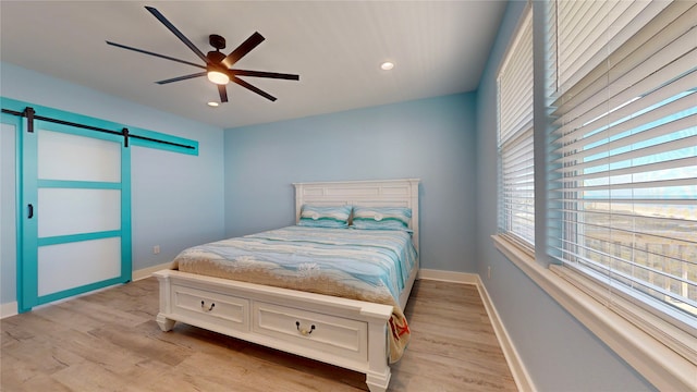
[[[296, 223], [302, 224], [306, 220], [306, 213], [301, 215], [304, 206], [320, 209], [352, 206], [354, 212], [357, 211], [356, 208], [409, 209], [412, 213], [405, 231], [408, 232], [406, 237], [411, 238], [413, 247], [418, 250], [418, 183], [419, 181], [415, 179], [296, 183], [293, 184]], [[317, 219], [317, 217], [313, 218]], [[355, 218], [357, 223], [360, 215], [353, 213], [352, 218]], [[314, 232], [321, 232], [323, 236], [310, 237], [309, 235], [315, 235]], [[327, 232], [329, 234], [325, 234]], [[369, 238], [368, 234], [380, 232], [382, 231], [353, 229], [333, 229], [332, 231], [332, 229], [320, 230], [298, 225], [186, 249], [173, 265], [182, 270], [168, 269], [155, 273], [160, 284], [160, 310], [157, 322], [162, 331], [170, 331], [176, 321], [181, 321], [359, 371], [366, 375], [366, 383], [370, 391], [386, 391], [391, 376], [390, 363], [399, 359], [406, 345], [405, 342], [408, 342], [402, 339], [400, 343], [400, 335], [405, 331], [408, 332], [406, 322], [400, 324], [402, 322], [400, 317], [403, 317], [402, 309], [406, 306], [418, 272], [417, 253], [412, 260], [402, 261], [402, 267], [398, 266], [394, 271], [383, 271], [381, 281], [374, 286], [384, 286], [389, 295], [366, 297], [372, 299], [379, 297], [379, 301], [327, 295], [322, 294], [322, 291], [311, 289], [309, 290], [315, 292], [289, 289], [278, 284], [273, 279], [262, 280], [266, 284], [253, 283], [244, 274], [235, 275], [231, 265], [224, 264], [228, 262], [223, 260], [228, 255], [225, 257], [222, 255], [223, 252], [231, 252], [228, 250], [228, 245], [235, 245], [235, 249], [237, 245], [242, 245], [241, 250], [235, 250], [242, 253], [229, 258], [247, 260], [257, 257], [257, 250], [266, 252], [261, 250], [262, 246], [266, 247], [269, 243], [281, 243], [283, 252], [294, 257], [302, 257], [305, 254], [305, 244], [303, 248], [296, 247], [299, 246], [296, 242], [301, 241], [319, 244], [315, 247], [319, 247], [320, 254], [329, 255], [327, 258], [339, 264], [346, 260], [343, 254], [333, 254], [333, 247], [337, 244], [355, 245], [356, 241], [365, 240], [375, 243], [374, 245], [380, 247], [382, 253], [392, 254], [392, 245], [384, 245], [384, 241], [401, 241], [400, 235], [396, 235], [396, 232], [386, 231], [389, 238]], [[358, 240], [352, 236], [356, 233]], [[404, 235], [404, 232], [401, 234]], [[311, 240], [306, 241], [306, 238]], [[220, 250], [223, 248], [225, 250]], [[273, 252], [278, 253], [278, 250]], [[358, 255], [363, 249], [352, 252], [353, 255]], [[211, 255], [213, 259], [221, 259], [223, 267], [220, 265], [216, 267], [212, 262], [205, 268], [200, 267], [200, 264], [188, 265], [187, 260], [197, 259], [201, 255], [206, 256], [206, 259]], [[264, 257], [267, 256], [264, 255]], [[317, 266], [316, 262], [308, 262], [302, 258], [296, 261], [298, 266], [313, 267], [305, 268], [303, 271], [315, 271], [314, 268]], [[234, 279], [235, 277], [237, 279]], [[394, 281], [396, 285], [391, 286], [388, 281]], [[404, 338], [408, 338], [408, 333], [404, 333]]]

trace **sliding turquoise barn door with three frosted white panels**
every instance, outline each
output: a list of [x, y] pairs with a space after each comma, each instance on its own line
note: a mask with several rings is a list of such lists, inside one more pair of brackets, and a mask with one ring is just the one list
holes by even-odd
[[20, 311], [131, 280], [130, 149], [123, 138], [25, 120]]

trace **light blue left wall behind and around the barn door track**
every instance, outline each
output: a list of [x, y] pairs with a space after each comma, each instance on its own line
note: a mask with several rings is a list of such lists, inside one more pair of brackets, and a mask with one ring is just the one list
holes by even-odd
[[[12, 64], [0, 65], [0, 94], [4, 97], [199, 142], [198, 156], [131, 147], [134, 270], [169, 262], [187, 246], [222, 238], [224, 191], [221, 128]], [[2, 181], [4, 188], [8, 185], [4, 175]], [[3, 209], [5, 201], [3, 197]], [[4, 229], [3, 225], [3, 237]], [[160, 245], [159, 255], [152, 254], [155, 245]], [[4, 271], [9, 268], [8, 264], [15, 264], [15, 260], [5, 259], [3, 249], [0, 262], [3, 272], [2, 303], [13, 302], [15, 295], [5, 295], [4, 283], [9, 278]]]

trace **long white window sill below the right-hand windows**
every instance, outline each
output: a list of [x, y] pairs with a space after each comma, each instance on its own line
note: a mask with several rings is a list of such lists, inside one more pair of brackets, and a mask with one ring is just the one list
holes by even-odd
[[696, 391], [695, 364], [586, 294], [500, 235], [493, 244], [566, 311], [662, 391]]

